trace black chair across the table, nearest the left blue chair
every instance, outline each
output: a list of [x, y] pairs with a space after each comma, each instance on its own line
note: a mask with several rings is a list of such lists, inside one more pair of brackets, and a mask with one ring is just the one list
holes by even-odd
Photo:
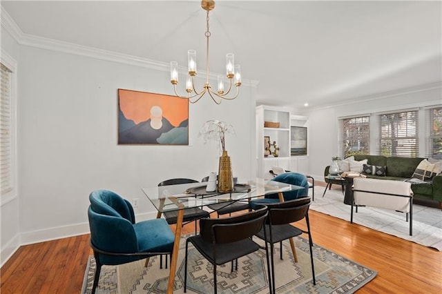
[[[179, 185], [179, 184], [192, 184], [192, 183], [199, 183], [195, 179], [186, 179], [186, 178], [175, 178], [175, 179], [166, 179], [163, 182], [160, 182], [158, 186], [171, 186], [171, 185]], [[164, 218], [166, 219], [166, 222], [168, 224], [177, 224], [177, 217], [178, 217], [178, 210], [173, 211], [166, 211], [163, 213]], [[195, 221], [195, 235], [197, 233], [197, 219], [200, 219], [202, 217], [210, 217], [210, 214], [208, 211], [194, 207], [194, 208], [186, 208], [183, 212], [182, 221], [183, 223], [188, 223]], [[160, 256], [160, 268], [163, 266], [163, 260], [162, 256]], [[166, 268], [167, 268], [167, 258], [166, 258]]]

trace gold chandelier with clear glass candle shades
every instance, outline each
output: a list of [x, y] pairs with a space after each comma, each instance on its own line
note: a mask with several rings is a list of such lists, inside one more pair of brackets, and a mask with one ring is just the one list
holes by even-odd
[[[175, 95], [177, 97], [183, 98], [183, 99], [189, 99], [190, 103], [196, 103], [198, 100], [200, 100], [206, 93], [209, 94], [211, 99], [216, 104], [221, 104], [222, 99], [226, 100], [233, 100], [236, 97], [238, 97], [238, 94], [240, 93], [240, 86], [241, 86], [241, 72], [240, 72], [240, 66], [236, 65], [234, 63], [233, 53], [227, 53], [226, 59], [227, 59], [227, 66], [226, 66], [226, 76], [227, 79], [229, 79], [229, 89], [227, 91], [224, 91], [224, 77], [222, 75], [218, 76], [218, 92], [215, 92], [211, 90], [211, 85], [209, 83], [209, 37], [211, 35], [211, 32], [209, 31], [209, 11], [213, 10], [215, 8], [215, 1], [211, 0], [202, 0], [201, 1], [201, 7], [202, 9], [206, 10], [207, 17], [206, 17], [206, 83], [202, 87], [202, 90], [198, 92], [198, 90], [195, 89], [195, 75], [196, 75], [196, 51], [195, 50], [189, 50], [187, 52], [187, 61], [189, 66], [189, 72], [186, 79], [186, 92], [187, 96], [180, 96], [177, 93], [177, 84], [178, 84], [178, 63], [177, 61], [171, 61], [171, 83], [173, 84], [173, 90], [175, 91]], [[229, 92], [232, 88], [232, 80], [233, 84], [236, 86], [236, 95], [232, 97], [228, 97]]]

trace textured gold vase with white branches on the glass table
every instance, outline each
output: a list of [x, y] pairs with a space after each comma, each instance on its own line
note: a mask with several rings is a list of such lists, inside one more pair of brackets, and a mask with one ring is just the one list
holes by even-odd
[[225, 136], [227, 133], [234, 134], [233, 126], [224, 121], [210, 120], [206, 121], [200, 130], [204, 137], [204, 143], [209, 140], [219, 141], [222, 149], [218, 167], [218, 192], [225, 193], [233, 190], [233, 173], [230, 156], [226, 151]]

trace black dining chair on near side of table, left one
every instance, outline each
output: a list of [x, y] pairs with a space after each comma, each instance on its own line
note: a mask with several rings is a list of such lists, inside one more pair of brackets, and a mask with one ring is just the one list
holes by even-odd
[[[267, 207], [234, 217], [220, 219], [200, 219], [200, 233], [187, 238], [184, 262], [184, 293], [187, 288], [187, 263], [189, 243], [213, 265], [213, 293], [217, 293], [216, 266], [233, 262], [260, 249], [251, 237], [257, 234], [265, 223]], [[266, 232], [264, 232], [266, 234]], [[266, 235], [267, 236], [267, 235]], [[267, 271], [269, 272], [269, 251], [265, 243]], [[236, 262], [238, 269], [238, 260]], [[233, 271], [233, 266], [232, 266]], [[271, 285], [269, 284], [271, 290]]]

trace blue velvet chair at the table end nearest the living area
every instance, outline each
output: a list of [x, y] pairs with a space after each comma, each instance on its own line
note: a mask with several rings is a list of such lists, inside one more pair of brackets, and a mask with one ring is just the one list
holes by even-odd
[[[303, 187], [300, 190], [283, 192], [282, 195], [284, 196], [284, 201], [294, 200], [302, 197], [308, 197], [309, 195], [309, 182], [307, 181], [307, 177], [305, 175], [302, 175], [302, 173], [292, 173], [292, 172], [282, 173], [280, 175], [277, 175], [276, 177], [273, 177], [271, 181]], [[272, 204], [278, 202], [279, 202], [278, 194], [270, 194], [270, 195], [265, 195], [263, 199], [252, 200], [250, 202], [250, 206], [252, 209], [256, 209], [256, 206], [258, 204]]]

